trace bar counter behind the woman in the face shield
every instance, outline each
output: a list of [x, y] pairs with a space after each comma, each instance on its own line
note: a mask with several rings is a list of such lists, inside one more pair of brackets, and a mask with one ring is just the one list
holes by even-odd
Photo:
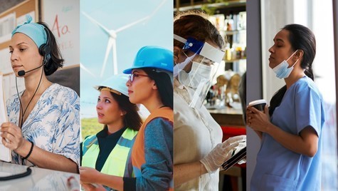
[[221, 109], [208, 109], [208, 111], [213, 119], [221, 126], [238, 126], [245, 128], [241, 109], [225, 107]]

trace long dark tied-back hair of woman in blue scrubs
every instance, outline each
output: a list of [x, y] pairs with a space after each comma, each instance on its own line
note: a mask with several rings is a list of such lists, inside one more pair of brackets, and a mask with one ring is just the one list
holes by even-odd
[[[312, 71], [312, 62], [316, 56], [316, 38], [315, 34], [307, 29], [307, 27], [300, 24], [288, 24], [282, 28], [289, 31], [289, 41], [291, 43], [293, 51], [302, 50], [304, 52], [302, 56], [302, 62], [300, 67], [305, 69], [305, 75], [314, 80]], [[273, 98], [270, 100], [269, 114], [273, 115], [273, 111], [282, 102], [282, 98], [286, 92], [287, 87], [283, 86], [278, 90]]]

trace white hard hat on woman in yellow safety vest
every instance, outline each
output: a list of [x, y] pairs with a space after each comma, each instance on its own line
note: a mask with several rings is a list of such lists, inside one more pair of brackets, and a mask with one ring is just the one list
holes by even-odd
[[119, 95], [122, 93], [123, 95], [128, 96], [128, 88], [126, 86], [128, 79], [127, 75], [118, 74], [107, 78], [107, 80], [100, 83], [99, 86], [94, 86], [94, 88], [98, 91], [107, 88], [107, 91], [111, 91], [112, 93]]

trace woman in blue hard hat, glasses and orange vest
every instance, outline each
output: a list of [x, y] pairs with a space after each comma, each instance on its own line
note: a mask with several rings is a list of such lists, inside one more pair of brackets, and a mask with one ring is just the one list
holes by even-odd
[[[144, 121], [134, 146], [132, 166], [135, 177], [98, 177], [96, 170], [80, 168], [80, 173], [88, 171], [92, 177], [81, 176], [81, 182], [98, 182], [116, 190], [172, 190], [173, 158], [173, 54], [158, 46], [141, 48], [127, 81], [131, 103], [143, 104], [150, 112]], [[87, 189], [93, 186], [87, 187]]]

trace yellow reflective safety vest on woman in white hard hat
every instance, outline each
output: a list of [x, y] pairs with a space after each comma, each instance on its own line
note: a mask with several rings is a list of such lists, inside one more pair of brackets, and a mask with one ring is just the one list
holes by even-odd
[[[112, 149], [105, 164], [100, 172], [107, 175], [115, 175], [119, 177], [134, 177], [132, 170], [131, 148], [134, 145], [134, 140], [137, 135], [137, 130], [126, 128], [125, 132], [117, 141], [115, 148]], [[98, 140], [96, 135], [92, 135], [83, 141], [83, 167], [95, 168], [97, 156], [100, 153]]]

